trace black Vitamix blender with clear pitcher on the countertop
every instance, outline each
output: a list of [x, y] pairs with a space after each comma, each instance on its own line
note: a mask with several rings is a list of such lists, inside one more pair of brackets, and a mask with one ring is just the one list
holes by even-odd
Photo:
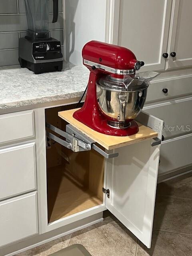
[[[48, 30], [49, 1], [25, 0], [28, 30], [19, 39], [19, 63], [35, 74], [61, 71], [61, 42], [50, 37]], [[53, 23], [58, 20], [58, 0], [53, 1]]]

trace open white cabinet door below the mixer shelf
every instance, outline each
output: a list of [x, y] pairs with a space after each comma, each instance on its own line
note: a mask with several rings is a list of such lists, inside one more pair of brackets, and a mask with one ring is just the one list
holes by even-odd
[[[159, 127], [160, 138], [163, 121], [148, 116], [147, 122], [152, 124], [151, 128]], [[116, 150], [119, 156], [109, 160], [106, 167], [106, 188], [110, 190], [106, 208], [148, 248], [151, 246], [160, 154], [160, 145], [152, 147], [151, 142], [145, 140], [119, 148]]]

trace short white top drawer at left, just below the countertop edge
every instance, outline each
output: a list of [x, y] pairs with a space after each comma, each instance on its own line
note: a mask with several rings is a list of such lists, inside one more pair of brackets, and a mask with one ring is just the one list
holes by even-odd
[[33, 136], [33, 110], [0, 115], [0, 143]]

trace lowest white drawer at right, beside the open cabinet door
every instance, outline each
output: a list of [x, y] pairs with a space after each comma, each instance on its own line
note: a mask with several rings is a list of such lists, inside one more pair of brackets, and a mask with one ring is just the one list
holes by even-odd
[[162, 143], [159, 174], [192, 164], [192, 134]]

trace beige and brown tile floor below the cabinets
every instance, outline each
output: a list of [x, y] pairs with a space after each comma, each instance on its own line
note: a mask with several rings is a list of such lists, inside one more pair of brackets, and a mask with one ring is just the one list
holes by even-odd
[[192, 256], [192, 174], [158, 185], [152, 247], [147, 249], [113, 215], [19, 256], [47, 256], [72, 244], [92, 256]]

